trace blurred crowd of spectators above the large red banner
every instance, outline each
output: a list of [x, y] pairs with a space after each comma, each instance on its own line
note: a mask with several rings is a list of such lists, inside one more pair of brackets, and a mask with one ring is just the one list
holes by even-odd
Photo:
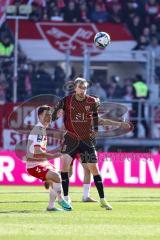
[[[27, 2], [15, 0], [17, 5]], [[137, 40], [136, 50], [150, 43], [156, 47], [160, 40], [159, 0], [31, 0], [30, 4], [33, 21], [123, 23]]]

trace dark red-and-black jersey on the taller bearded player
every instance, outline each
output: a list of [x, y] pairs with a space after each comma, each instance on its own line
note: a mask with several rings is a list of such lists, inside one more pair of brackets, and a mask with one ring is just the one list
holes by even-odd
[[87, 139], [92, 130], [98, 129], [99, 99], [90, 95], [82, 101], [75, 94], [64, 97], [56, 105], [52, 119], [57, 118], [60, 109], [64, 111], [64, 125], [70, 134], [78, 139]]

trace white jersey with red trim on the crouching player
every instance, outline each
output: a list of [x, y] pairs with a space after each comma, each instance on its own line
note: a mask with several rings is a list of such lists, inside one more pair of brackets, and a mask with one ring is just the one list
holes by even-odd
[[[35, 127], [32, 129], [28, 136], [28, 144], [27, 144], [27, 168], [33, 168], [38, 165], [46, 166], [46, 164], [50, 164], [46, 158], [39, 157], [39, 161], [35, 161], [35, 148], [39, 147], [42, 152], [46, 152], [47, 147], [47, 134], [46, 128], [42, 125], [42, 123], [38, 122]], [[33, 161], [32, 161], [33, 159]], [[43, 159], [43, 161], [42, 161]], [[46, 161], [44, 161], [46, 159]]]

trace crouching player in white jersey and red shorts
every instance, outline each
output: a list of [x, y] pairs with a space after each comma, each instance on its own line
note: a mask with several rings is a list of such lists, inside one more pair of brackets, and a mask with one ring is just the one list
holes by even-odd
[[[61, 177], [54, 166], [47, 159], [60, 157], [61, 153], [48, 153], [46, 128], [51, 122], [51, 108], [43, 105], [38, 109], [39, 122], [32, 129], [28, 137], [26, 167], [27, 172], [35, 178], [50, 182], [49, 205], [47, 211], [60, 210], [55, 207], [55, 199], [58, 198], [59, 205], [67, 211], [72, 207], [62, 197]], [[62, 209], [61, 209], [62, 210]]]

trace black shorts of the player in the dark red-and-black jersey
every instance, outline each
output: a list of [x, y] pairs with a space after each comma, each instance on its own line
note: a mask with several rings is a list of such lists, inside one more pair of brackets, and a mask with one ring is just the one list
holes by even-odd
[[61, 152], [70, 155], [72, 158], [79, 153], [82, 163], [97, 163], [94, 138], [78, 140], [66, 134], [64, 136]]

